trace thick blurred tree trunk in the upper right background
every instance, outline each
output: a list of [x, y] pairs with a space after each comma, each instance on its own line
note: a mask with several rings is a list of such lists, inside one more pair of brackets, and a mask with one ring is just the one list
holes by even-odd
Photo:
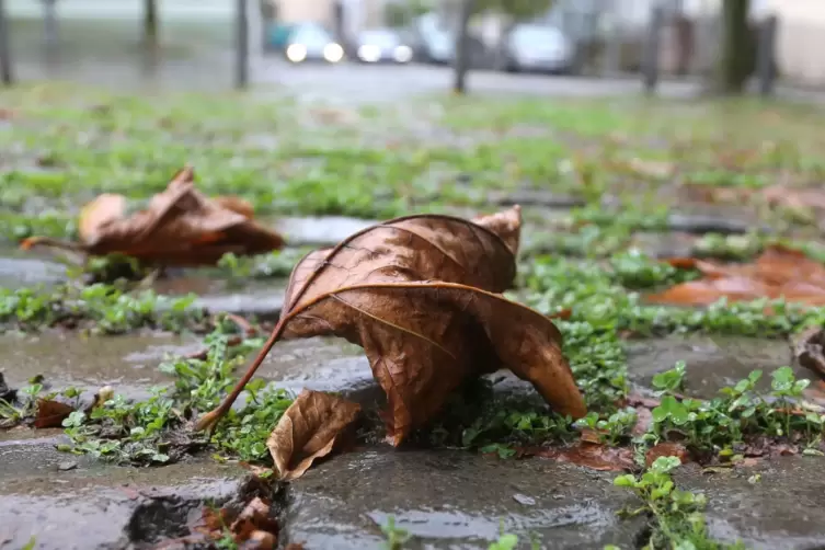
[[738, 94], [753, 69], [752, 36], [747, 23], [749, 0], [722, 2], [722, 55], [719, 91]]

